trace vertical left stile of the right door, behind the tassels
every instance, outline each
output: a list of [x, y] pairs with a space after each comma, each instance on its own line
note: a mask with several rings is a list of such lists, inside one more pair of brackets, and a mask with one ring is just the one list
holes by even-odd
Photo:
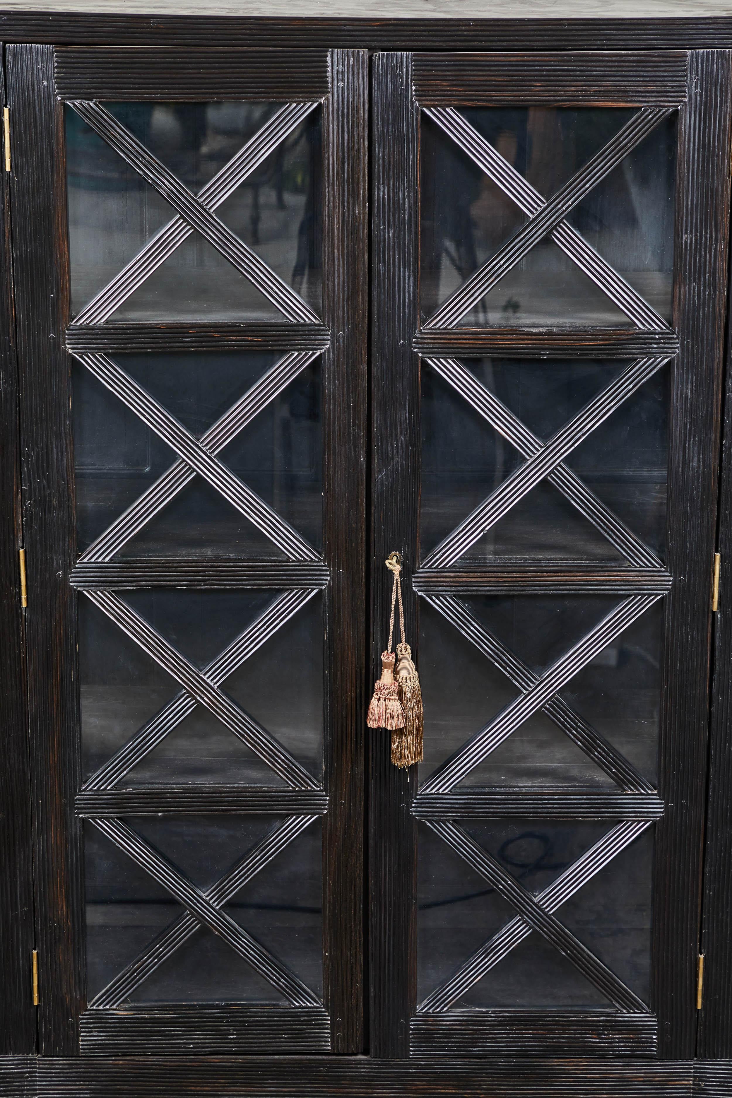
[[[372, 528], [371, 663], [379, 677], [392, 592], [384, 560], [404, 558], [407, 638], [418, 665], [419, 359], [417, 327], [418, 113], [407, 54], [383, 54], [372, 70]], [[416, 1007], [416, 824], [409, 802], [417, 768], [392, 765], [390, 735], [371, 732], [371, 1050], [408, 1056]]]

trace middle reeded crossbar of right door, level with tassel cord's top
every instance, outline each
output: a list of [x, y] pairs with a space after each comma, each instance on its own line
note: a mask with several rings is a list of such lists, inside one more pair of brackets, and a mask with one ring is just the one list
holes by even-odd
[[475, 564], [420, 568], [413, 579], [420, 595], [471, 594], [666, 594], [671, 574], [661, 568], [604, 564]]

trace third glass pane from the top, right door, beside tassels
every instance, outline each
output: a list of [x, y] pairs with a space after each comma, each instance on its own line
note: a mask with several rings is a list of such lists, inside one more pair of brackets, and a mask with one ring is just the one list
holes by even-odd
[[[541, 674], [618, 605], [618, 597], [472, 596], [462, 606], [520, 663]], [[561, 692], [571, 709], [633, 763], [656, 776], [661, 701], [658, 603], [620, 634]], [[449, 666], [446, 679], [443, 669]], [[487, 657], [425, 602], [419, 606], [425, 698], [420, 781], [491, 722], [519, 693]], [[493, 788], [612, 788], [612, 780], [544, 712], [533, 714], [460, 783]]]

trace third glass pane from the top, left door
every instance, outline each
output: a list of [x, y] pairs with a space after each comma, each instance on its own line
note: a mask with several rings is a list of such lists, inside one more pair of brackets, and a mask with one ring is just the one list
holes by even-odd
[[[271, 591], [125, 592], [124, 601], [203, 669], [271, 605]], [[282, 666], [288, 674], [282, 674]], [[91, 602], [79, 598], [85, 777], [180, 694], [178, 684]], [[323, 773], [322, 596], [274, 632], [222, 684], [314, 776]], [[203, 782], [282, 787], [278, 775], [207, 709], [167, 722], [167, 735], [120, 784]]]

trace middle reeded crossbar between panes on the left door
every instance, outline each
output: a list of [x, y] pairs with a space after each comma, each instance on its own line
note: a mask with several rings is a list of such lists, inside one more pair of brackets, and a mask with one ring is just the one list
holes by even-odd
[[279, 560], [196, 560], [182, 557], [79, 562], [70, 583], [80, 591], [135, 587], [272, 587], [320, 591], [325, 564]]

